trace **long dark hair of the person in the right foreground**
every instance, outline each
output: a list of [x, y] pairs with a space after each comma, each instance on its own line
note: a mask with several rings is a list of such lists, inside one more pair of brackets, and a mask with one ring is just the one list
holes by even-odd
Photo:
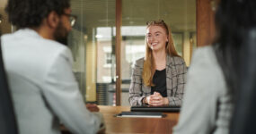
[[[218, 63], [225, 76], [228, 91], [239, 90], [243, 47], [249, 32], [256, 27], [255, 0], [221, 0], [216, 10], [216, 42]], [[243, 72], [242, 72], [243, 73]]]

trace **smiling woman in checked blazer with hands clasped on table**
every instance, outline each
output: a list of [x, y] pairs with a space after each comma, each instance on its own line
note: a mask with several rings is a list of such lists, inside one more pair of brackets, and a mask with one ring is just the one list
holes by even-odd
[[187, 67], [175, 50], [172, 32], [163, 20], [148, 21], [146, 57], [132, 71], [130, 105], [181, 105]]

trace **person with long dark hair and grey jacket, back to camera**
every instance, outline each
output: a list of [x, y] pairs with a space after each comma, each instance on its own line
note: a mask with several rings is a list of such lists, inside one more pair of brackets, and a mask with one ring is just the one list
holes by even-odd
[[[228, 134], [234, 96], [241, 82], [243, 46], [256, 27], [255, 0], [221, 0], [216, 10], [216, 43], [193, 55], [180, 121], [174, 134]], [[255, 37], [255, 35], [254, 35]], [[255, 44], [254, 44], [255, 45]], [[243, 58], [241, 58], [243, 57]]]

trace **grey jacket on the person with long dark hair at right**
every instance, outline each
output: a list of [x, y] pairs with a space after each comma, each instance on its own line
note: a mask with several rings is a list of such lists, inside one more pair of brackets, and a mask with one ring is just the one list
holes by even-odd
[[233, 107], [214, 48], [199, 47], [192, 56], [180, 119], [173, 133], [228, 134]]

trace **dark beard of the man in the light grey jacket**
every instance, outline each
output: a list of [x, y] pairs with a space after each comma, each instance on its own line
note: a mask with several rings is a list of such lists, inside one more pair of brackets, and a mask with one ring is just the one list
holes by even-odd
[[67, 46], [68, 30], [63, 26], [61, 21], [59, 21], [53, 36], [57, 42]]

